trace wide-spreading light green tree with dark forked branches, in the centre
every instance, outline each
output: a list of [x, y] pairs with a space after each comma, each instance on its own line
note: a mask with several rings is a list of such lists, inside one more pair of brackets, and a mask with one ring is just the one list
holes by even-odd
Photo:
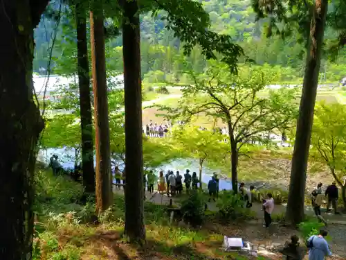
[[[296, 89], [266, 88], [270, 71], [242, 67], [233, 75], [224, 64], [212, 64], [203, 75], [190, 71], [194, 85], [183, 88], [179, 107], [161, 106], [168, 117], [204, 114], [221, 119], [228, 128], [233, 190], [237, 191], [239, 150], [263, 132], [290, 125], [297, 114]], [[186, 119], [189, 120], [189, 119]]]

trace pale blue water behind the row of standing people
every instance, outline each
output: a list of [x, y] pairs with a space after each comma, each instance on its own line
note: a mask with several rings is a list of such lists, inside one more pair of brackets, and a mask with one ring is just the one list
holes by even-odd
[[[49, 164], [49, 159], [52, 155], [59, 156], [59, 162], [62, 164], [62, 167], [65, 169], [73, 168], [75, 166], [75, 163], [73, 161], [73, 158], [75, 156], [75, 153], [73, 150], [69, 148], [49, 148], [46, 150], [39, 150], [39, 154], [37, 156], [37, 160], [39, 162], [44, 162], [45, 164]], [[95, 161], [94, 161], [95, 164]], [[123, 168], [123, 164], [119, 165], [120, 170]], [[194, 171], [197, 173], [197, 176], [199, 176], [199, 162], [197, 159], [174, 159], [171, 162], [162, 164], [161, 166], [156, 167], [156, 174], [158, 175], [158, 171], [162, 170], [164, 173], [167, 173], [168, 170], [174, 171], [174, 174], [176, 171], [180, 171], [181, 174], [184, 174], [186, 169], [190, 170], [190, 174], [192, 174]], [[202, 182], [208, 183], [210, 180], [210, 177], [212, 173], [218, 173], [219, 176], [221, 175], [221, 171], [210, 169], [208, 166], [203, 167], [202, 171]], [[220, 179], [219, 180], [219, 189], [226, 189], [230, 190], [232, 189], [232, 183], [228, 179]]]

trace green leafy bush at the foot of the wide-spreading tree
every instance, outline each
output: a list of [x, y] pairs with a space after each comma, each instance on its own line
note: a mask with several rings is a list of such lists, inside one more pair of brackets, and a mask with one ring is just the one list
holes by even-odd
[[244, 200], [233, 191], [223, 191], [220, 193], [219, 201], [217, 202], [221, 220], [235, 220], [239, 218], [248, 218], [251, 216], [251, 211], [244, 208]]

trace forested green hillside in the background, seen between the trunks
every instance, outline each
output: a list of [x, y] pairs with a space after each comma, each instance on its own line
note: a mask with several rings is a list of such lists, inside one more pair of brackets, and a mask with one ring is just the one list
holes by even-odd
[[[202, 1], [203, 7], [210, 15], [211, 28], [213, 31], [231, 35], [235, 42], [239, 43], [248, 58], [255, 61], [255, 64], [265, 66], [275, 66], [277, 78], [284, 82], [295, 82], [302, 76], [304, 70], [304, 46], [298, 42], [298, 36], [287, 37], [282, 40], [279, 36], [266, 38], [265, 21], [255, 21], [255, 13], [250, 0], [210, 0]], [[65, 8], [65, 11], [67, 8]], [[64, 12], [64, 8], [63, 8]], [[147, 83], [158, 83], [162, 81], [176, 81], [185, 83], [186, 77], [182, 73], [188, 66], [196, 72], [201, 72], [206, 67], [206, 59], [201, 55], [201, 51], [195, 48], [187, 64], [183, 62], [183, 49], [179, 40], [174, 37], [172, 31], [165, 28], [163, 17], [165, 12], [158, 11], [153, 17], [152, 13], [141, 15], [141, 54], [142, 54], [142, 75]], [[71, 71], [71, 60], [75, 57], [75, 40], [71, 35], [70, 40], [66, 39], [64, 26], [69, 27], [71, 35], [71, 19], [64, 17], [57, 26], [57, 21], [52, 21], [49, 17], [44, 17], [35, 32], [36, 55], [34, 70], [39, 72], [39, 68], [46, 68], [49, 53], [53, 54], [54, 73], [73, 73]], [[50, 46], [54, 38], [55, 31], [57, 37], [53, 51]], [[327, 30], [326, 39], [333, 37], [333, 32]], [[326, 41], [327, 42], [327, 41]], [[107, 42], [109, 58], [107, 67], [111, 71], [122, 71], [122, 39], [109, 37]], [[327, 49], [327, 47], [326, 47]], [[330, 62], [325, 58], [321, 66], [321, 80], [338, 81], [346, 75], [346, 55], [345, 51], [340, 53], [338, 60]], [[67, 54], [67, 55], [66, 55]], [[115, 57], [115, 58], [114, 58]], [[327, 55], [326, 55], [327, 57]], [[64, 63], [69, 64], [66, 68]]]

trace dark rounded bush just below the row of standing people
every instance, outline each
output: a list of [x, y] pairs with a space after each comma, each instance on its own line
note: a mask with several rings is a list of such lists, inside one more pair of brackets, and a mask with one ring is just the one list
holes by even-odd
[[181, 214], [185, 223], [197, 227], [203, 223], [206, 201], [198, 191], [192, 191], [188, 199], [181, 202]]

